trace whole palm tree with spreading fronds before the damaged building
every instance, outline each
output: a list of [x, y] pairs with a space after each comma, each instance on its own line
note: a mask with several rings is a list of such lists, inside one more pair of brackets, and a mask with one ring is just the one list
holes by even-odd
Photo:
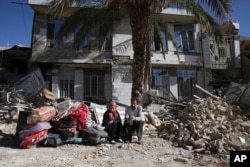
[[[49, 11], [54, 17], [62, 17], [72, 4], [79, 7], [84, 2], [83, 0], [53, 0]], [[156, 32], [154, 35], [161, 39], [157, 32], [160, 32], [159, 30], [163, 26], [165, 29], [167, 26], [166, 21], [164, 24], [159, 21], [161, 20], [159, 13], [169, 4], [175, 4], [176, 8], [186, 9], [187, 12], [192, 13], [209, 36], [214, 37], [217, 41], [222, 41], [218, 26], [219, 21], [226, 19], [231, 12], [230, 0], [104, 0], [103, 3], [94, 5], [91, 3], [89, 6], [80, 7], [77, 12], [66, 19], [59, 36], [66, 35], [79, 26], [79, 23], [82, 23], [80, 31], [78, 31], [79, 35], [75, 39], [76, 46], [79, 46], [77, 44], [84, 39], [83, 37], [89, 33], [89, 30], [93, 31], [96, 27], [105, 25], [108, 27], [105, 32], [108, 33], [114, 25], [114, 21], [128, 17], [132, 29], [134, 51], [131, 96], [141, 101], [145, 90], [144, 85], [146, 81], [150, 80], [151, 35], [152, 32]], [[174, 39], [171, 34], [168, 35]]]

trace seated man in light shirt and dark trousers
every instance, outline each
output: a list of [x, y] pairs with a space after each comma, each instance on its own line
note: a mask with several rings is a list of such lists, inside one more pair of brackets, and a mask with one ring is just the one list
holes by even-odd
[[142, 143], [141, 139], [144, 124], [142, 114], [142, 106], [137, 104], [137, 100], [135, 98], [132, 98], [131, 105], [125, 109], [124, 128], [127, 142], [132, 142], [132, 134], [136, 130], [138, 143]]

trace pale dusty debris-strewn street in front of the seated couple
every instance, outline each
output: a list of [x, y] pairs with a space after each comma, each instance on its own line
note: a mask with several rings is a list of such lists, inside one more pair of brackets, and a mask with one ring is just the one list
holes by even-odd
[[[1, 124], [2, 125], [2, 124]], [[20, 149], [15, 134], [16, 123], [5, 124], [0, 139], [0, 166], [229, 166], [227, 158], [217, 154], [199, 154], [171, 146], [155, 135], [144, 135], [143, 145], [117, 143]]]

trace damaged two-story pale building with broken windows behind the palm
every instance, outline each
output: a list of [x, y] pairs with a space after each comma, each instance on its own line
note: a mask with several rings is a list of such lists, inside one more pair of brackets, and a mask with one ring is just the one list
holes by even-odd
[[[80, 50], [75, 50], [75, 33], [63, 42], [55, 40], [62, 20], [48, 17], [47, 3], [46, 0], [29, 0], [35, 13], [31, 62], [34, 67], [42, 69], [55, 97], [95, 102], [113, 99], [128, 105], [131, 98], [133, 60], [129, 21], [123, 20], [105, 41], [100, 37], [90, 36], [85, 39]], [[229, 52], [232, 53], [230, 60], [237, 62], [238, 40], [230, 39], [228, 45], [222, 47], [224, 52], [219, 47], [217, 59], [214, 56], [214, 42], [201, 31], [193, 15], [171, 6], [161, 14], [176, 38], [179, 54], [176, 54], [172, 40], [162, 31], [164, 47], [160, 48], [159, 41], [156, 40], [151, 44], [152, 82], [148, 91], [162, 97], [171, 94], [176, 100], [190, 99], [194, 94], [202, 96], [202, 92], [195, 90], [194, 84], [212, 91], [210, 82], [213, 69], [228, 67], [229, 62], [225, 56]]]

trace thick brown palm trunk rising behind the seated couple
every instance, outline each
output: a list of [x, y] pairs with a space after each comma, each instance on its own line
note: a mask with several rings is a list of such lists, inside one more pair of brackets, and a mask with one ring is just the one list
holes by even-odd
[[149, 42], [149, 15], [150, 9], [136, 8], [131, 12], [132, 45], [134, 59], [132, 64], [132, 98], [138, 103], [142, 100], [144, 92], [144, 71]]

